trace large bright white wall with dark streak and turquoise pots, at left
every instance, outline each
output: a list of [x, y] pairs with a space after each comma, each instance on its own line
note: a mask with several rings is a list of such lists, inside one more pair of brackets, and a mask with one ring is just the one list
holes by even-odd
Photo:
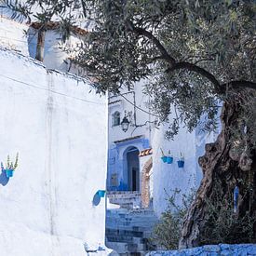
[[105, 189], [106, 99], [7, 49], [0, 59], [0, 160], [20, 153], [0, 177], [0, 255], [86, 255], [84, 243], [104, 245], [105, 198], [92, 200]]

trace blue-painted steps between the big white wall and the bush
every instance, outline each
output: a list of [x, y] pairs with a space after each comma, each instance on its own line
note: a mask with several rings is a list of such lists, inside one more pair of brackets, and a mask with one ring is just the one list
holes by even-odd
[[119, 255], [145, 255], [155, 249], [149, 237], [156, 222], [151, 209], [108, 209], [106, 246]]

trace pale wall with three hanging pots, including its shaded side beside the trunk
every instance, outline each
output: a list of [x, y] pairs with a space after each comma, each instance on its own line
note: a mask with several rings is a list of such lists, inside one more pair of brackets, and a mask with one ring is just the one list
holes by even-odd
[[[171, 115], [169, 116], [171, 119]], [[205, 154], [205, 144], [215, 141], [221, 128], [211, 133], [203, 132], [200, 127], [191, 133], [187, 128], [180, 128], [173, 141], [165, 137], [168, 124], [155, 129], [153, 139], [153, 182], [154, 182], [154, 210], [158, 217], [168, 207], [168, 196], [176, 189], [180, 194], [176, 196], [176, 203], [182, 205], [182, 194], [190, 195], [195, 191], [202, 179], [202, 169], [198, 165], [198, 157]], [[161, 150], [168, 155], [170, 150], [173, 163], [163, 163]], [[177, 161], [184, 156], [184, 167], [179, 168]]]

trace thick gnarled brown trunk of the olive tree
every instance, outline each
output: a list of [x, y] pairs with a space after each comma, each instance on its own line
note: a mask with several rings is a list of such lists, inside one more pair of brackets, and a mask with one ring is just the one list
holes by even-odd
[[[230, 193], [234, 192], [237, 185], [239, 199], [236, 214], [243, 216], [246, 211], [249, 211], [250, 216], [255, 216], [255, 150], [248, 150], [249, 147], [246, 145], [242, 152], [237, 153], [236, 146], [239, 145], [239, 141], [231, 140], [232, 128], [241, 125], [239, 124], [240, 112], [241, 104], [239, 101], [226, 101], [223, 104], [222, 132], [217, 141], [206, 145], [205, 155], [198, 159], [203, 170], [203, 179], [183, 222], [180, 249], [200, 245], [200, 234], [209, 214], [207, 200], [211, 201], [211, 204], [215, 204], [213, 193], [216, 192], [216, 189], [218, 189], [218, 195], [224, 198], [228, 194], [231, 195]], [[243, 143], [247, 144], [249, 141], [243, 141]], [[255, 229], [253, 233], [255, 236]]]

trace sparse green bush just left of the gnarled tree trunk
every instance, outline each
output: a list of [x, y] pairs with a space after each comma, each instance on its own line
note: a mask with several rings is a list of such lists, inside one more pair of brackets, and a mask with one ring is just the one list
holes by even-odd
[[155, 225], [151, 240], [157, 247], [178, 249], [183, 218], [195, 195], [195, 192], [182, 195], [182, 206], [178, 206], [176, 199], [180, 192], [176, 189], [172, 195], [168, 195], [168, 209], [162, 213], [160, 222]]

